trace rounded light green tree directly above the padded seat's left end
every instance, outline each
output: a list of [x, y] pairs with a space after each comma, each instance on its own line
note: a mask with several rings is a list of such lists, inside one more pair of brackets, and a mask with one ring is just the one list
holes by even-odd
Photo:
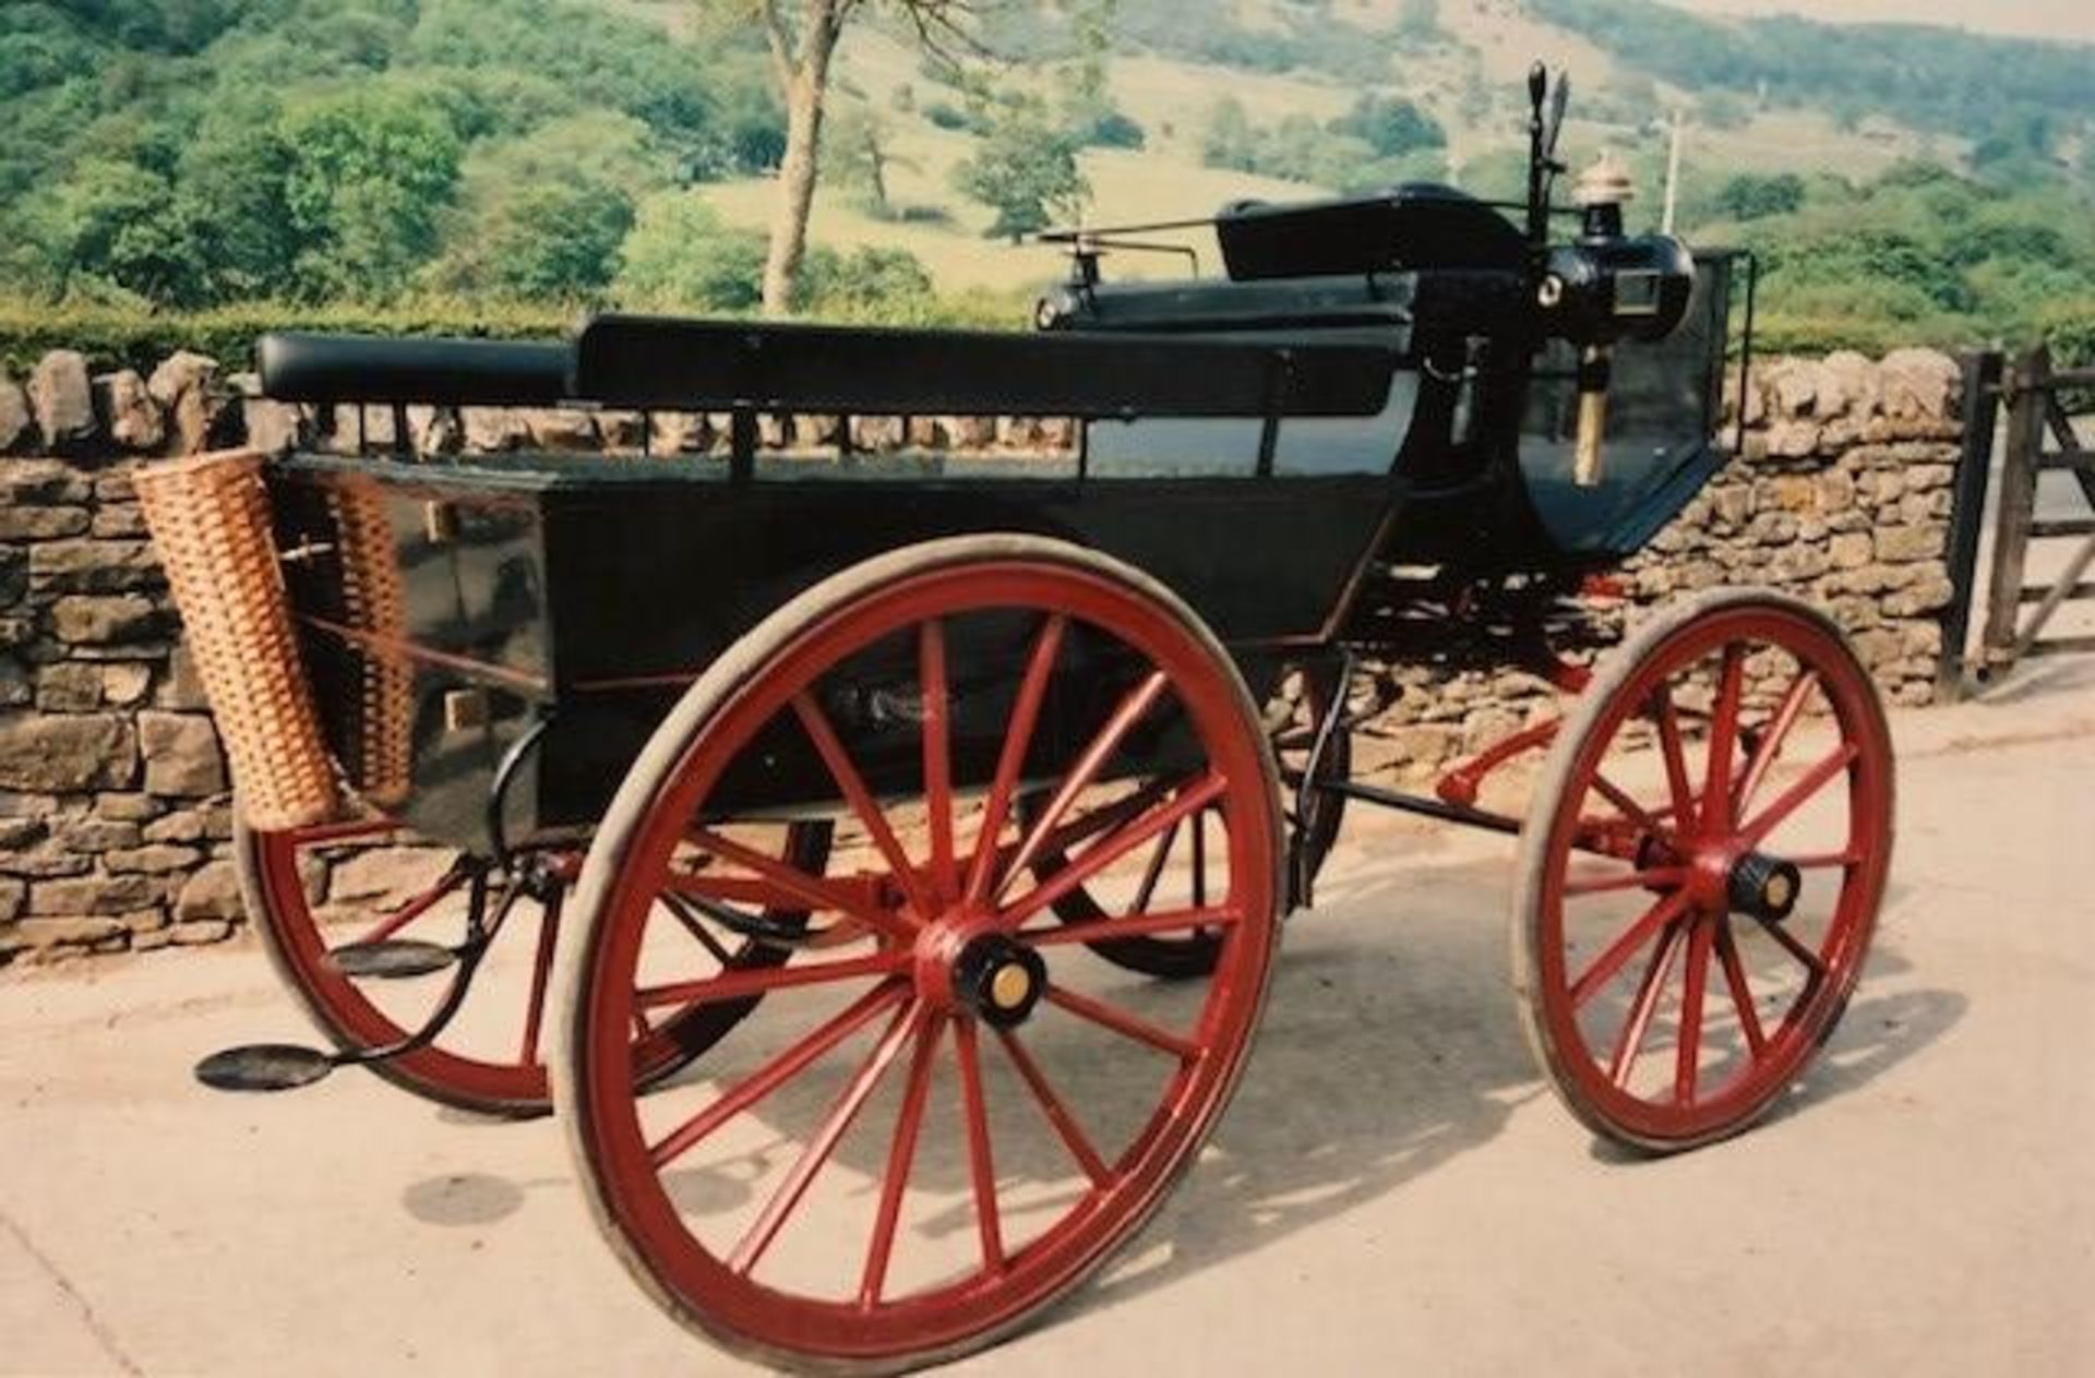
[[312, 295], [398, 295], [436, 253], [459, 138], [425, 98], [375, 86], [285, 111], [285, 205]]

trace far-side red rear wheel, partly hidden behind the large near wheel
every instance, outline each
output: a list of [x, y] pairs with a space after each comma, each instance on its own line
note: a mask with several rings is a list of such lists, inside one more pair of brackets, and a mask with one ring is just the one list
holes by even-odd
[[[796, 825], [775, 846], [784, 846], [796, 865], [821, 871], [828, 831]], [[551, 859], [555, 865], [580, 861], [578, 852], [553, 852]], [[465, 892], [471, 884], [467, 865], [455, 852], [419, 844], [409, 829], [379, 817], [289, 831], [239, 825], [235, 869], [277, 974], [335, 1047], [379, 1047], [404, 1039], [442, 1001], [448, 968], [417, 980], [352, 976], [335, 955], [373, 942], [455, 947], [465, 936]], [[541, 1043], [551, 1041], [545, 1007], [559, 944], [561, 896], [553, 903], [520, 901], [476, 970], [457, 1020], [429, 1047], [375, 1062], [373, 1070], [406, 1091], [463, 1110], [507, 1116], [551, 1110]], [[790, 947], [750, 940], [714, 917], [685, 917], [723, 968], [773, 968], [790, 957]], [[790, 928], [804, 921], [804, 913], [773, 913], [758, 921]], [[744, 1014], [746, 1005], [716, 1005], [649, 1028], [639, 1043], [645, 1074], [662, 1076], [696, 1058]]]

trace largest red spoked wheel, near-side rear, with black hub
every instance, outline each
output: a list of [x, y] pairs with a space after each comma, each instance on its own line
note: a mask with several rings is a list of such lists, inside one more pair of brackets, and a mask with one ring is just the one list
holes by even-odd
[[[1112, 783], [1165, 775], [1140, 769], [1165, 746], [1173, 787]], [[828, 880], [731, 838], [729, 792], [792, 758], [855, 831]], [[1138, 886], [1144, 848], [1203, 810], [1205, 907], [1052, 917], [1073, 886]], [[1066, 857], [1050, 880], [1043, 848]], [[790, 894], [830, 947], [679, 974], [664, 894]], [[995, 1342], [1192, 1162], [1251, 1045], [1278, 901], [1257, 710], [1165, 588], [1024, 536], [830, 578], [706, 672], [589, 852], [555, 1091], [597, 1221], [664, 1309], [767, 1361], [895, 1370]], [[1083, 949], [1200, 928], [1219, 934], [1200, 980], [1131, 982]], [[635, 1012], [752, 993], [702, 1079], [635, 1093]]]

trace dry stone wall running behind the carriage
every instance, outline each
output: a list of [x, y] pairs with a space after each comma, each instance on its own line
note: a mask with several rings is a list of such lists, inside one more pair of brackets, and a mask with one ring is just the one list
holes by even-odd
[[[1747, 442], [1624, 572], [1630, 609], [1718, 584], [1827, 607], [1894, 704], [1925, 704], [1948, 605], [1959, 371], [1942, 354], [1762, 364]], [[409, 408], [432, 454], [522, 448], [723, 454], [727, 417]], [[218, 942], [241, 924], [224, 756], [180, 647], [130, 473], [228, 444], [394, 442], [390, 408], [316, 415], [197, 354], [92, 375], [73, 352], [0, 375], [0, 965]], [[809, 463], [1066, 454], [1060, 419], [765, 417]], [[828, 459], [817, 459], [828, 457]], [[846, 461], [851, 463], [851, 461]], [[1364, 773], [1420, 779], [1554, 712], [1525, 674], [1370, 664]]]

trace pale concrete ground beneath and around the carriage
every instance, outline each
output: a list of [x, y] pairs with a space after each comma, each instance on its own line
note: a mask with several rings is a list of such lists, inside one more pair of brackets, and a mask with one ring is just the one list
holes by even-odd
[[[1207, 1160], [955, 1372], [2095, 1372], [2095, 662], [1898, 735], [1873, 970], [1770, 1123], [1596, 1143], [1515, 1024], [1510, 844], [1355, 825]], [[0, 1370], [740, 1372], [612, 1263], [551, 1123], [189, 1076], [285, 1035], [253, 949], [0, 978]]]

